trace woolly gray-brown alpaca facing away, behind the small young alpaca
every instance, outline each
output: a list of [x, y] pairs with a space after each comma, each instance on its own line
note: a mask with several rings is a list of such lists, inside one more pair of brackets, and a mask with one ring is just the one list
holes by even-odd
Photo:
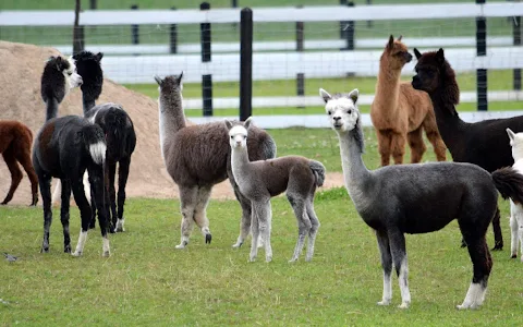
[[[211, 234], [206, 215], [210, 191], [229, 177], [234, 194], [242, 206], [240, 235], [233, 247], [240, 247], [251, 230], [251, 202], [239, 192], [231, 171], [231, 148], [228, 131], [222, 122], [185, 125], [182, 108], [182, 75], [161, 80], [158, 98], [160, 147], [166, 168], [180, 190], [182, 237], [177, 249], [184, 249], [193, 228], [193, 220], [210, 243]], [[262, 129], [250, 130], [250, 160], [270, 159], [276, 156], [276, 144]]]

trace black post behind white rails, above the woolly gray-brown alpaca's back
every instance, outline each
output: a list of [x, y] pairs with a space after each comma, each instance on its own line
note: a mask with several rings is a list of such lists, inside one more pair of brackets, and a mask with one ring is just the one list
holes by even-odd
[[[199, 10], [209, 10], [208, 2], [202, 2]], [[199, 38], [202, 43], [202, 62], [210, 62], [210, 23], [199, 24]], [[208, 71], [207, 71], [208, 73]], [[212, 116], [212, 75], [202, 75], [202, 96], [204, 98], [204, 117]]]

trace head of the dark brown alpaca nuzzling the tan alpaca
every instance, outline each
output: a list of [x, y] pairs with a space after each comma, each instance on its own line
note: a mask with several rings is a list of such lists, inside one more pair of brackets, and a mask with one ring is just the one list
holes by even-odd
[[440, 71], [445, 63], [443, 50], [438, 52], [427, 52], [422, 56], [417, 49], [414, 49], [417, 58], [415, 66], [416, 75], [412, 77], [412, 87], [415, 89], [433, 93], [439, 87]]

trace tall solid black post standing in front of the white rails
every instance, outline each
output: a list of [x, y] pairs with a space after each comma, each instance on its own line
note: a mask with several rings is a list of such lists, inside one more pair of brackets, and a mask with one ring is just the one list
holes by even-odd
[[240, 14], [240, 120], [253, 116], [253, 11]]

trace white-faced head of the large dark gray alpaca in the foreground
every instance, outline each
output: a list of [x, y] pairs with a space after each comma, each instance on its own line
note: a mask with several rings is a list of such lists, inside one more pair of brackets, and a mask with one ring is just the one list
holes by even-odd
[[349, 95], [337, 94], [331, 96], [320, 88], [319, 94], [325, 101], [325, 111], [329, 116], [331, 128], [337, 132], [352, 131], [357, 123], [360, 111], [356, 106], [360, 92], [353, 89]]

